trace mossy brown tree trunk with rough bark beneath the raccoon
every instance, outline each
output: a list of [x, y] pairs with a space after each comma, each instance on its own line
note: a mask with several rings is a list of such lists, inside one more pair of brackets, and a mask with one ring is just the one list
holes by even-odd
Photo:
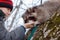
[[[56, 11], [50, 20], [41, 24], [33, 35], [32, 40], [60, 40], [60, 10]], [[26, 34], [25, 40], [28, 37], [31, 30]], [[30, 39], [31, 40], [31, 39]]]

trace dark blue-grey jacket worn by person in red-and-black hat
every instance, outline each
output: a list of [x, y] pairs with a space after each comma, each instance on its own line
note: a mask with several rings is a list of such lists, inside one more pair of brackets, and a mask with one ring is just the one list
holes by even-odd
[[[2, 12], [0, 11], [0, 14]], [[25, 28], [18, 27], [15, 30], [8, 32], [4, 27], [3, 17], [0, 15], [0, 40], [24, 40]]]

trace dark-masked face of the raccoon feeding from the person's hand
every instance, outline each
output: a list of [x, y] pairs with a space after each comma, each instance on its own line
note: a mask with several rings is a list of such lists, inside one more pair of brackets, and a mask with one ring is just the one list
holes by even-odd
[[35, 7], [29, 8], [22, 17], [25, 20], [25, 22], [28, 22], [29, 20], [36, 21], [37, 13], [35, 12]]

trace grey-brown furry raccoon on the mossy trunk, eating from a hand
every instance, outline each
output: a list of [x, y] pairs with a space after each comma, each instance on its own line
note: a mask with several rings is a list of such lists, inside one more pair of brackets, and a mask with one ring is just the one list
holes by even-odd
[[[49, 20], [60, 8], [59, 2], [47, 1], [42, 5], [28, 8], [23, 15], [25, 22], [35, 20], [40, 23]], [[33, 17], [33, 18], [32, 18]]]

